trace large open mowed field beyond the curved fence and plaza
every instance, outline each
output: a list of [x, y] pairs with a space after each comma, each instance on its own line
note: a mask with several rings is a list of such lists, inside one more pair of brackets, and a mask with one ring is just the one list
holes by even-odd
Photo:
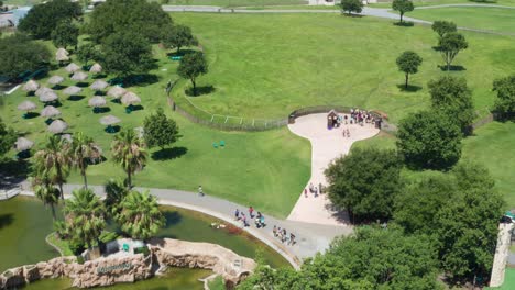
[[[375, 18], [332, 14], [172, 13], [189, 25], [207, 54], [210, 71], [199, 86], [215, 91], [189, 100], [208, 112], [285, 118], [308, 105], [339, 104], [387, 112], [397, 122], [428, 105], [427, 82], [448, 72], [434, 49], [429, 26], [401, 27]], [[473, 89], [475, 107], [491, 108], [495, 78], [515, 71], [514, 37], [464, 33], [470, 47], [453, 65]], [[395, 59], [415, 51], [424, 63], [412, 90]], [[185, 82], [187, 83], [187, 82]], [[189, 83], [187, 83], [189, 86]], [[174, 91], [185, 96], [184, 88]], [[178, 98], [180, 100], [180, 98]]]

